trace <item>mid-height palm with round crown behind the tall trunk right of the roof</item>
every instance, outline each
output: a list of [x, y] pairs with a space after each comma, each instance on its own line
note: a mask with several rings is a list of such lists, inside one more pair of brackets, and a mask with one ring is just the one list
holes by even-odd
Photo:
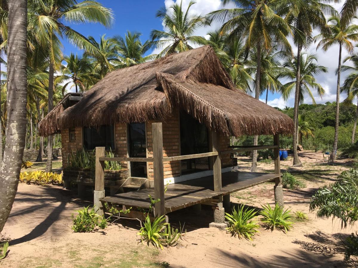
[[[325, 93], [323, 87], [317, 83], [315, 75], [327, 73], [328, 69], [325, 66], [318, 64], [318, 57], [316, 54], [309, 54], [303, 52], [300, 54], [300, 60], [297, 60], [295, 55], [294, 59], [291, 59], [291, 56], [288, 56], [284, 63], [283, 67], [285, 70], [280, 74], [280, 78], [290, 79], [292, 81], [287, 82], [282, 85], [281, 93], [282, 98], [287, 100], [293, 92], [296, 90], [296, 74], [297, 74], [297, 61], [300, 62], [300, 80], [299, 80], [299, 92], [297, 103], [298, 106], [304, 102], [305, 95], [308, 95], [311, 98], [313, 104], [316, 103], [311, 89], [317, 90], [317, 94], [322, 98]], [[298, 111], [297, 106], [297, 111]], [[298, 143], [298, 115], [296, 118], [296, 143]]]

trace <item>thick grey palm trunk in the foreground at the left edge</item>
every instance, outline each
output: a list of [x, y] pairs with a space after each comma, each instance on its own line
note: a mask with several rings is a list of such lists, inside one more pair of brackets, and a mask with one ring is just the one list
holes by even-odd
[[8, 6], [8, 122], [0, 169], [0, 233], [18, 189], [26, 133], [27, 1], [9, 0]]

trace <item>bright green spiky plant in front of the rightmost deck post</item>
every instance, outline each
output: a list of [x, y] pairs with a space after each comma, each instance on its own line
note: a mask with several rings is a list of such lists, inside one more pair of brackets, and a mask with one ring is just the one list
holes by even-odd
[[275, 208], [272, 209], [269, 204], [262, 205], [263, 210], [260, 211], [260, 214], [263, 216], [261, 222], [266, 225], [267, 229], [277, 229], [289, 231], [292, 228], [292, 222], [289, 220], [292, 218], [290, 215], [291, 210], [286, 209], [284, 211], [279, 205], [275, 205]]

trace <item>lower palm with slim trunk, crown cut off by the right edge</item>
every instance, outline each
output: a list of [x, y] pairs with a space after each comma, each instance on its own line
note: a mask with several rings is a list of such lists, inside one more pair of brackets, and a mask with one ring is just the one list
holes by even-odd
[[[343, 63], [350, 61], [353, 66], [342, 65], [342, 71], [349, 71], [344, 84], [341, 88], [342, 92], [347, 93], [347, 98], [344, 100], [345, 104], [352, 104], [354, 97], [358, 97], [358, 53], [350, 55], [343, 60]], [[355, 138], [355, 129], [357, 128], [357, 118], [358, 118], [358, 103], [357, 110], [355, 111], [354, 124], [352, 131], [352, 144], [354, 143]]]

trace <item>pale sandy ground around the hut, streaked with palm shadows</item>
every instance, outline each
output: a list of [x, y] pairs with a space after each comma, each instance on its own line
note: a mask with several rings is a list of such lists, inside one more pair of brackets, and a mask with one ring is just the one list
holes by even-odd
[[[5, 225], [3, 235], [10, 238], [8, 256], [1, 267], [358, 267], [357, 258], [344, 263], [342, 240], [358, 230], [357, 226], [341, 229], [338, 221], [316, 219], [309, 212], [314, 191], [334, 182], [342, 170], [349, 168], [348, 159], [333, 166], [322, 161], [322, 154], [300, 153], [303, 167], [293, 168], [292, 161], [281, 162], [282, 172], [289, 170], [307, 184], [307, 188], [285, 190], [285, 206], [302, 210], [309, 220], [295, 222], [287, 234], [260, 228], [253, 241], [231, 237], [225, 231], [207, 228], [212, 221], [210, 208], [200, 214], [192, 209], [169, 214], [170, 222], [185, 223], [187, 233], [176, 247], [157, 250], [138, 244], [136, 221], [122, 220], [105, 230], [73, 233], [72, 213], [90, 200], [77, 199], [75, 191], [58, 186], [20, 184], [18, 194]], [[250, 166], [248, 158], [239, 165]], [[272, 164], [259, 164], [270, 171]], [[274, 204], [273, 184], [266, 183], [234, 193], [233, 203], [256, 207]]]

